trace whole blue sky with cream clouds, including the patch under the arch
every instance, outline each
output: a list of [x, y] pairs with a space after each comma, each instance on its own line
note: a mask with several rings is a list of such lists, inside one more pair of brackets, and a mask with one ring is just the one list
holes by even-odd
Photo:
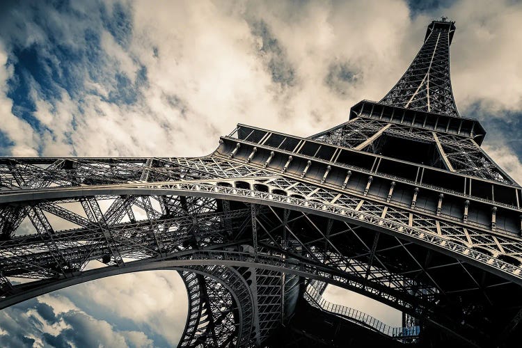
[[[459, 112], [522, 182], [514, 0], [4, 0], [0, 156], [199, 156], [237, 122], [308, 136], [380, 100], [441, 15]], [[173, 346], [185, 298], [168, 271], [77, 285], [1, 310], [0, 346]]]

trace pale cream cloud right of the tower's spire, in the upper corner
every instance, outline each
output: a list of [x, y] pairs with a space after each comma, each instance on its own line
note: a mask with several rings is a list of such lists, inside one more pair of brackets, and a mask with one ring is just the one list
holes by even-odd
[[[457, 19], [452, 43], [452, 79], [457, 106], [472, 103], [498, 112], [522, 111], [522, 3], [471, 1], [454, 3]], [[468, 115], [473, 117], [473, 115]]]

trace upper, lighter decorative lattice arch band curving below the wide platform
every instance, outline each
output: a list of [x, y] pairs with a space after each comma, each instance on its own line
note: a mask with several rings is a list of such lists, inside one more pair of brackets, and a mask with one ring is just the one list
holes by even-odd
[[[262, 190], [267, 185], [262, 185]], [[103, 187], [69, 187], [61, 189], [41, 189], [41, 190], [19, 190], [16, 193], [8, 193], [0, 196], [0, 203], [21, 202], [24, 200], [44, 200], [74, 198], [80, 196], [95, 195], [134, 195], [134, 196], [154, 196], [154, 195], [175, 195], [175, 196], [195, 196], [209, 197], [222, 200], [237, 200], [246, 203], [269, 205], [282, 207], [285, 209], [298, 210], [325, 216], [330, 219], [348, 221], [357, 225], [372, 228], [379, 232], [384, 232], [395, 237], [406, 239], [416, 244], [421, 244], [427, 248], [450, 255], [459, 260], [487, 270], [501, 278], [510, 280], [522, 285], [522, 268], [512, 263], [505, 262], [492, 255], [477, 251], [476, 247], [469, 247], [461, 242], [438, 236], [429, 230], [423, 230], [415, 226], [397, 221], [379, 219], [378, 217], [367, 214], [366, 212], [354, 211], [349, 207], [321, 203], [314, 200], [303, 200], [301, 198], [285, 197], [273, 195], [265, 191], [248, 189], [238, 189], [235, 187], [221, 187], [219, 184], [191, 183], [191, 182], [164, 182], [164, 183], [144, 183], [144, 184], [118, 184], [105, 185]]]

